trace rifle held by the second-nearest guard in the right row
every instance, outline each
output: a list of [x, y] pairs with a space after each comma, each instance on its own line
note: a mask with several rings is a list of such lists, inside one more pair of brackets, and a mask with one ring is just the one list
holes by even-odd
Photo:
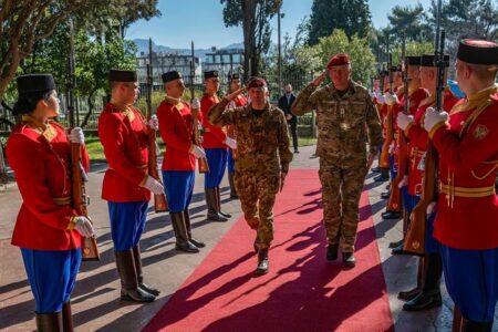
[[[408, 98], [408, 62], [407, 58], [405, 56], [405, 34], [403, 34], [403, 42], [402, 42], [402, 59], [404, 61], [404, 71], [403, 71], [403, 82], [404, 82], [404, 108], [403, 113], [408, 115], [409, 111], [409, 98]], [[398, 154], [397, 154], [397, 174], [396, 177], [393, 179], [393, 183], [391, 184], [391, 195], [390, 200], [387, 201], [387, 211], [396, 211], [400, 212], [402, 210], [402, 198], [401, 198], [401, 189], [400, 189], [400, 183], [403, 180], [405, 174], [406, 174], [406, 167], [407, 167], [407, 146], [406, 146], [406, 139], [405, 134], [403, 131], [397, 129], [397, 147], [398, 147]], [[405, 229], [404, 227], [403, 229]]]

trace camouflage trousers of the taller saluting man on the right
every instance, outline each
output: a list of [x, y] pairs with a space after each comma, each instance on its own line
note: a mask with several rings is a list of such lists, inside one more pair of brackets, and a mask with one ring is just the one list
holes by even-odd
[[338, 166], [320, 160], [319, 175], [326, 239], [339, 243], [342, 252], [354, 252], [366, 162]]

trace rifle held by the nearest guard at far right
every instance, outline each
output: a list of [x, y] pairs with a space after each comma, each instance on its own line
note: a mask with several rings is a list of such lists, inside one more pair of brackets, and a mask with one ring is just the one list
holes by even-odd
[[[436, 38], [437, 40], [437, 38]], [[436, 48], [434, 58], [437, 65], [437, 84], [436, 84], [436, 111], [443, 110], [443, 92], [445, 87], [445, 31], [440, 32], [439, 48]], [[437, 41], [436, 41], [437, 43]], [[423, 178], [423, 191], [421, 201], [415, 206], [409, 217], [412, 222], [406, 235], [404, 250], [413, 252], [415, 255], [424, 255], [425, 252], [425, 228], [426, 228], [426, 211], [427, 206], [437, 200], [437, 154], [430, 139], [427, 139], [427, 152], [425, 154], [424, 163], [424, 178]]]

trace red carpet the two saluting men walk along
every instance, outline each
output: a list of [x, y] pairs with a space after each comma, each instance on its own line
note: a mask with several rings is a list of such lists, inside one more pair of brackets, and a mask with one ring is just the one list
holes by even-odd
[[241, 218], [144, 331], [394, 331], [366, 191], [352, 270], [325, 261], [317, 170], [291, 170], [274, 212], [268, 274]]

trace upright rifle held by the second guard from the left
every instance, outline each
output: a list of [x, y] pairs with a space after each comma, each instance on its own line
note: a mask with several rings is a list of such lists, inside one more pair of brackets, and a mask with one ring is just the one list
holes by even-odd
[[[145, 104], [146, 104], [146, 118], [147, 123], [151, 121], [153, 116], [153, 106], [152, 106], [152, 91], [153, 91], [153, 55], [152, 55], [152, 39], [148, 39], [148, 63], [147, 63], [147, 93], [145, 95]], [[156, 149], [156, 131], [147, 127], [147, 136], [148, 136], [148, 175], [155, 178], [160, 183], [159, 174], [157, 173], [157, 149]], [[159, 194], [154, 195], [154, 210], [156, 212], [164, 212], [168, 210], [168, 203], [166, 200], [166, 195]]]

